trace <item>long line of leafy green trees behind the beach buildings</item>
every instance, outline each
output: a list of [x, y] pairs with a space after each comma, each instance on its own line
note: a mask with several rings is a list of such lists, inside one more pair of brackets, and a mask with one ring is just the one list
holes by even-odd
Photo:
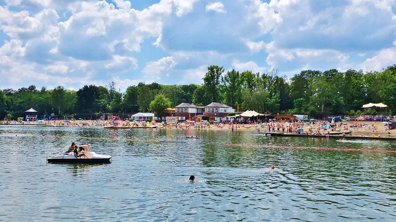
[[155, 112], [182, 102], [205, 106], [222, 102], [240, 111], [255, 110], [267, 114], [310, 114], [312, 116], [377, 114], [362, 110], [363, 104], [383, 102], [396, 114], [396, 64], [381, 71], [363, 73], [331, 69], [325, 72], [304, 70], [292, 78], [279, 76], [277, 70], [266, 73], [227, 71], [221, 66], [207, 67], [203, 84], [160, 85], [139, 83], [125, 92], [114, 82], [107, 86], [84, 86], [78, 91], [45, 87], [3, 89], [0, 91], [0, 115], [8, 119], [23, 117], [33, 107], [41, 115], [83, 115], [100, 113]]

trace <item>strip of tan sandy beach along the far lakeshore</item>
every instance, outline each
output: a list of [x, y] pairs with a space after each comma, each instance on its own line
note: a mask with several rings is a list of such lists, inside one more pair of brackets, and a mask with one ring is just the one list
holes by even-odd
[[[6, 121], [2, 123], [6, 124]], [[18, 123], [15, 121], [9, 121], [8, 124], [11, 125], [46, 125], [46, 126], [69, 126], [69, 127], [110, 127], [112, 126], [110, 121], [73, 121], [71, 123], [67, 123], [60, 120], [55, 121], [35, 121], [35, 122], [25, 122]], [[159, 125], [158, 128], [163, 127], [169, 130], [181, 130], [181, 129], [197, 129], [197, 130], [243, 130], [243, 131], [258, 131], [258, 132], [269, 132], [270, 128], [271, 132], [284, 132], [289, 133], [291, 130], [292, 133], [296, 133], [296, 129], [301, 128], [304, 130], [303, 133], [315, 133], [316, 131], [321, 134], [325, 134], [327, 132], [337, 133], [337, 132], [350, 132], [350, 135], [365, 135], [365, 136], [386, 136], [386, 137], [395, 137], [396, 129], [389, 130], [386, 123], [382, 122], [366, 122], [366, 121], [353, 121], [353, 122], [338, 122], [335, 127], [327, 128], [330, 125], [329, 122], [326, 121], [316, 121], [310, 122], [309, 124], [297, 122], [297, 123], [282, 123], [282, 122], [271, 122], [271, 123], [262, 123], [258, 125], [257, 123], [249, 123], [249, 124], [199, 124], [199, 125], [187, 125], [185, 123], [181, 124], [171, 124], [171, 125]], [[119, 121], [117, 122], [115, 128], [117, 127], [131, 127], [131, 123], [127, 121]], [[283, 131], [283, 128], [285, 131]], [[278, 130], [279, 129], [279, 130]], [[311, 129], [311, 131], [309, 130]], [[273, 131], [274, 130], [274, 131]]]

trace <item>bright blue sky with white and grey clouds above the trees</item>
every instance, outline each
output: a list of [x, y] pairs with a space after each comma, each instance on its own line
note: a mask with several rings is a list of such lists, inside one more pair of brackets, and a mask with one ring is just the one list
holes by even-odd
[[0, 89], [202, 84], [396, 63], [395, 0], [0, 0]]

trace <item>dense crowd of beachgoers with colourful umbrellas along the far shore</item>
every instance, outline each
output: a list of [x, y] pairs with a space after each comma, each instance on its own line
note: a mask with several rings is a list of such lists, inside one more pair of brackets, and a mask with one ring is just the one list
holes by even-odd
[[[311, 135], [327, 135], [328, 133], [394, 133], [388, 124], [381, 124], [381, 122], [338, 122], [330, 123], [329, 121], [297, 121], [297, 122], [282, 122], [282, 121], [244, 121], [244, 122], [225, 122], [225, 121], [184, 121], [182, 123], [164, 123], [164, 122], [147, 122], [147, 121], [130, 121], [130, 120], [50, 120], [42, 121], [42, 124], [50, 126], [78, 126], [78, 127], [123, 127], [123, 128], [139, 128], [155, 125], [162, 129], [196, 129], [196, 130], [256, 130], [265, 133], [304, 133]], [[31, 123], [32, 124], [32, 123]]]

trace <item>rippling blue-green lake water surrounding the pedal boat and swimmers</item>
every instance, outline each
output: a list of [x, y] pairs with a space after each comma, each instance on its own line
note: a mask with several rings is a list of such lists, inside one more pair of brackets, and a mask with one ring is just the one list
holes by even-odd
[[[396, 141], [49, 126], [0, 133], [0, 221], [396, 220], [396, 153], [226, 145], [396, 150]], [[111, 163], [47, 163], [71, 142], [91, 143]]]

